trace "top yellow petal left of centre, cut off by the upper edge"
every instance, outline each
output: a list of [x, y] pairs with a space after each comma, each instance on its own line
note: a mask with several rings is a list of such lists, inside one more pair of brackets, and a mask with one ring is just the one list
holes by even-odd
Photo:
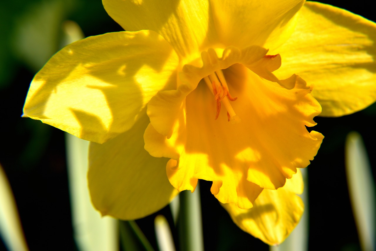
[[[107, 13], [126, 31], [153, 30], [186, 60], [217, 43], [208, 1], [103, 0]], [[209, 28], [210, 25], [210, 28]]]

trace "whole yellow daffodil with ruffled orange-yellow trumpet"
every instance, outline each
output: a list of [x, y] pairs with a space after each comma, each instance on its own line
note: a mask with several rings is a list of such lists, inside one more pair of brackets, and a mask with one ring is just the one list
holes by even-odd
[[306, 126], [376, 98], [376, 25], [300, 0], [103, 5], [126, 32], [59, 51], [24, 116], [92, 141], [102, 214], [144, 217], [205, 179], [240, 228], [282, 242], [303, 213], [297, 168], [323, 139]]

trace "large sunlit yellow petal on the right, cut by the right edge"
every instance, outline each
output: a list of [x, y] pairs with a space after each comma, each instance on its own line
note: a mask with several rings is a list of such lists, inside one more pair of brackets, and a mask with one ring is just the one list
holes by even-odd
[[275, 72], [314, 84], [320, 116], [342, 116], [376, 100], [376, 24], [340, 8], [306, 2], [291, 38], [271, 52], [282, 56]]

